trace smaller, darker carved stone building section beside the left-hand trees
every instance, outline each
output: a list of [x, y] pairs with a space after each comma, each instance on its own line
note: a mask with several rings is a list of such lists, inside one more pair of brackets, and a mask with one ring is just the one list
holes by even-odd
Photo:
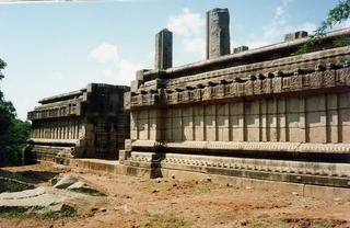
[[118, 158], [129, 137], [124, 93], [130, 88], [90, 83], [46, 98], [28, 112], [32, 136], [25, 159], [63, 162], [65, 158]]

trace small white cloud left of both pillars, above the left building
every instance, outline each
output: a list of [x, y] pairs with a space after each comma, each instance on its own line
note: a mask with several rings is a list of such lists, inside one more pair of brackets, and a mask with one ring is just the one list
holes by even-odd
[[89, 57], [96, 58], [101, 62], [119, 60], [117, 47], [113, 44], [106, 43], [98, 45], [98, 47], [90, 52]]

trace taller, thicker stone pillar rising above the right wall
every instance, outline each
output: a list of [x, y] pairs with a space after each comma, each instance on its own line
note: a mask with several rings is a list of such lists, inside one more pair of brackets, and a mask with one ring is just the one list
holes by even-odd
[[207, 59], [230, 54], [230, 14], [228, 9], [207, 12]]

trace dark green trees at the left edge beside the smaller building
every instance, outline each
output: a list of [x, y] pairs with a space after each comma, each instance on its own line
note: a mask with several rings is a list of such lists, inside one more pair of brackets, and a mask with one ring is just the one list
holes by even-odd
[[[1, 69], [7, 67], [7, 62], [0, 59]], [[0, 80], [4, 76], [0, 73]], [[15, 118], [15, 109], [11, 101], [4, 100], [4, 94], [0, 90], [0, 167], [21, 164], [22, 149], [30, 138], [31, 124]]]

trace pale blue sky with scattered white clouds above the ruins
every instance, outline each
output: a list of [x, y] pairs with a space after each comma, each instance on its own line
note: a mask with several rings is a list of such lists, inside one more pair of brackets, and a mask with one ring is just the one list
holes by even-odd
[[[4, 1], [4, 0], [0, 0]], [[312, 33], [338, 0], [150, 0], [0, 3], [0, 88], [18, 117], [91, 82], [130, 84], [154, 68], [154, 36], [173, 32], [173, 66], [205, 59], [206, 12], [230, 11], [231, 49]], [[349, 27], [349, 20], [334, 30]]]

